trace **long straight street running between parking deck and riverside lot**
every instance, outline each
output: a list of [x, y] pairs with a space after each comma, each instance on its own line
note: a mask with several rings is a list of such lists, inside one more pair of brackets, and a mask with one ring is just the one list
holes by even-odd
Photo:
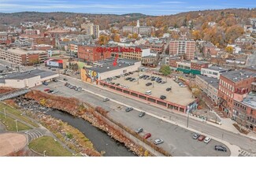
[[[66, 76], [60, 76], [61, 79], [66, 78]], [[142, 109], [149, 113], [154, 113], [155, 115], [169, 118], [170, 120], [175, 121], [177, 124], [182, 124], [184, 126], [187, 125], [187, 116], [180, 113], [173, 113], [171, 110], [165, 110], [158, 108], [154, 105], [151, 105], [147, 102], [142, 102], [135, 100], [133, 98], [128, 98], [121, 94], [116, 94], [113, 91], [102, 90], [102, 88], [95, 87], [89, 83], [83, 83], [77, 79], [68, 78], [69, 83], [72, 83], [76, 86], [83, 87], [88, 91], [92, 91], [97, 94], [101, 94], [102, 96], [106, 96], [107, 98], [111, 98], [118, 102], [122, 102], [126, 105], [131, 105], [132, 107]], [[87, 98], [87, 100], [91, 100], [91, 98]], [[100, 103], [98, 103], [100, 104]], [[102, 105], [102, 103], [100, 104]], [[124, 118], [125, 120], [126, 118]], [[202, 133], [206, 133], [214, 136], [217, 139], [223, 139], [226, 142], [229, 142], [232, 145], [239, 146], [243, 150], [247, 150], [249, 152], [256, 152], [256, 140], [250, 139], [246, 136], [239, 135], [232, 131], [226, 131], [221, 129], [220, 127], [213, 126], [212, 124], [206, 124], [202, 121], [198, 121], [195, 119], [189, 119], [188, 127], [195, 129], [196, 131], [201, 131]]]

